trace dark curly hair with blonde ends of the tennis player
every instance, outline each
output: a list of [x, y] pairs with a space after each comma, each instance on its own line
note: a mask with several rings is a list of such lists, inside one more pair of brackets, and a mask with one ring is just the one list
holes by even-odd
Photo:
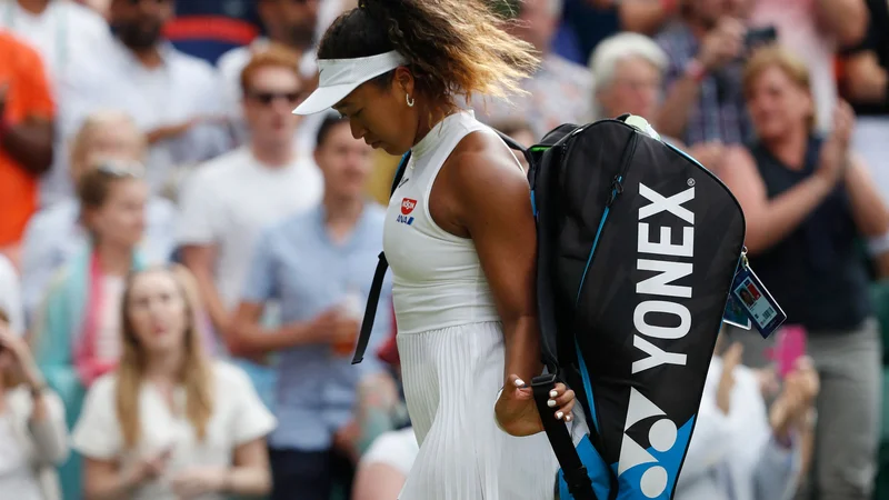
[[[508, 0], [496, 0], [505, 2]], [[508, 16], [491, 0], [360, 0], [327, 30], [318, 59], [397, 50], [427, 97], [473, 93], [509, 100], [539, 64], [535, 48], [500, 29]], [[507, 9], [509, 10], [509, 9]], [[391, 83], [393, 72], [374, 79]]]

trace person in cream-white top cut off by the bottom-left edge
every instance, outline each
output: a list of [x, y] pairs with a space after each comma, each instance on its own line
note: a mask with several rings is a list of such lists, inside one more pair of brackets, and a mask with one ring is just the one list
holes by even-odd
[[0, 496], [58, 499], [53, 467], [68, 457], [67, 432], [61, 400], [0, 309]]

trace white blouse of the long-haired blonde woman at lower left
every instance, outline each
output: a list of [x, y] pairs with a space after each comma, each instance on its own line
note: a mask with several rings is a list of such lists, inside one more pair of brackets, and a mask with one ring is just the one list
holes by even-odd
[[[139, 392], [141, 439], [132, 450], [124, 447], [116, 410], [117, 376], [99, 378], [87, 393], [83, 411], [72, 432], [73, 448], [96, 460], [121, 460], [123, 464], [154, 457], [168, 448], [172, 453], [164, 476], [142, 484], [131, 500], [179, 500], [169, 479], [189, 468], [230, 467], [234, 449], [266, 437], [277, 426], [274, 417], [262, 404], [247, 374], [232, 364], [214, 361], [213, 413], [201, 441], [184, 411], [172, 412], [163, 396], [151, 383], [142, 383]], [[173, 400], [184, 408], [184, 389], [177, 389]], [[211, 494], [201, 500], [222, 500]]]

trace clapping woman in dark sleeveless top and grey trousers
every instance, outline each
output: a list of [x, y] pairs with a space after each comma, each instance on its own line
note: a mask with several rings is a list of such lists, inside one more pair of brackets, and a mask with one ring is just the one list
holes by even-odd
[[[751, 267], [783, 308], [787, 324], [808, 331], [821, 386], [817, 489], [820, 498], [870, 498], [882, 350], [857, 243], [889, 230], [889, 210], [849, 148], [849, 104], [837, 107], [829, 136], [816, 131], [805, 63], [780, 47], [763, 48], [748, 62], [742, 83], [758, 140], [749, 152], [726, 159], [731, 168], [722, 179], [743, 208]], [[751, 337], [743, 332], [738, 340]]]

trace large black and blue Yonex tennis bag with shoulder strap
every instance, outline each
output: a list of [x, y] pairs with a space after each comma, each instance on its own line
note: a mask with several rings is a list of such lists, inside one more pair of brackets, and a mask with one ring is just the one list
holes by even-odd
[[[743, 250], [741, 208], [638, 117], [563, 124], [527, 150], [501, 137], [531, 166], [547, 366], [532, 387], [561, 466], [556, 496], [669, 500]], [[353, 363], [387, 267], [380, 253]], [[590, 429], [577, 444], [547, 407], [559, 380]]]

